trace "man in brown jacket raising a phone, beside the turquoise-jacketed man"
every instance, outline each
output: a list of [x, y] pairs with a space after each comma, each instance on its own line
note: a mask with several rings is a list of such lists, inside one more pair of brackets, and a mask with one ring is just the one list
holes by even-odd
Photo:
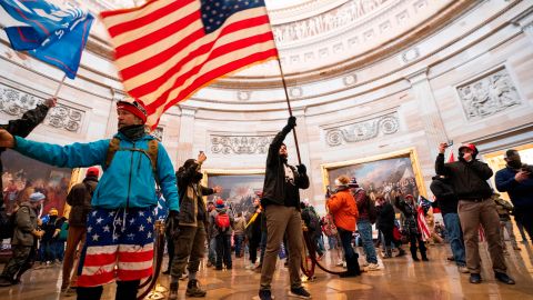
[[222, 191], [220, 187], [210, 189], [200, 184], [203, 177], [201, 167], [207, 159], [205, 154], [200, 152], [195, 160], [188, 159], [175, 172], [180, 192], [180, 212], [171, 213], [177, 216], [171, 216], [175, 233], [169, 299], [178, 299], [178, 280], [185, 270], [185, 266], [189, 271], [185, 294], [188, 297], [205, 297], [207, 294], [207, 291], [200, 289], [197, 280], [200, 261], [205, 252], [205, 230], [208, 228], [208, 212], [203, 196]]

